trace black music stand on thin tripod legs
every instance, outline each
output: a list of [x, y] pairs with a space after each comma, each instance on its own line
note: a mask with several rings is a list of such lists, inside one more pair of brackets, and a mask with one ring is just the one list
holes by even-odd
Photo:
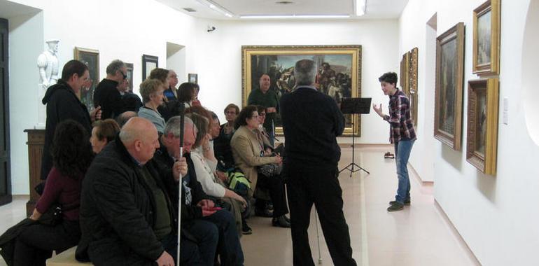
[[[372, 98], [342, 98], [341, 102], [341, 111], [342, 113], [349, 113], [352, 115], [352, 162], [349, 165], [346, 165], [343, 169], [339, 170], [339, 174], [344, 170], [350, 171], [350, 177], [352, 173], [358, 172], [359, 170], [365, 171], [365, 173], [370, 174], [365, 168], [360, 167], [354, 162], [353, 149], [356, 144], [356, 134], [354, 133], [354, 121], [356, 114], [370, 113], [370, 101]], [[357, 169], [354, 169], [357, 168]]]

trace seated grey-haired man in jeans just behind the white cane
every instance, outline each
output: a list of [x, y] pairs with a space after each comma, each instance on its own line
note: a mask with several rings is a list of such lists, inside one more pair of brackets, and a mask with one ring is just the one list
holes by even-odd
[[[195, 115], [195, 114], [193, 114]], [[181, 248], [184, 245], [184, 235], [197, 239], [204, 265], [214, 265], [216, 253], [221, 259], [221, 265], [243, 265], [244, 255], [235, 227], [235, 219], [229, 211], [214, 207], [214, 202], [207, 200], [207, 195], [197, 181], [191, 160], [191, 147], [195, 144], [197, 127], [188, 116], [185, 118], [183, 134], [183, 160], [186, 158], [188, 173], [182, 177], [181, 197]], [[167, 122], [165, 132], [160, 137], [161, 148], [155, 153], [155, 160], [162, 168], [172, 168], [174, 161], [180, 157], [181, 118], [173, 116]], [[201, 173], [203, 174], [203, 173]], [[173, 202], [177, 206], [178, 187], [169, 191], [174, 195]], [[223, 188], [224, 189], [224, 188]], [[196, 203], [196, 204], [195, 204]], [[218, 243], [211, 241], [211, 232], [218, 232]], [[212, 244], [214, 244], [212, 246]], [[192, 265], [192, 264], [186, 264]]]

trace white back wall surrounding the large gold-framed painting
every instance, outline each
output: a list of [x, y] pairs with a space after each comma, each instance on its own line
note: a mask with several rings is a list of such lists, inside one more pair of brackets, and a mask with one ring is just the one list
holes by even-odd
[[[196, 71], [200, 99], [224, 121], [228, 103], [241, 106], [241, 45], [362, 45], [362, 97], [372, 97], [387, 111], [388, 98], [378, 77], [398, 72], [397, 20], [200, 20]], [[207, 32], [208, 25], [216, 27]], [[362, 117], [360, 144], [388, 143], [388, 123], [376, 113]], [[339, 142], [351, 142], [341, 138]]]

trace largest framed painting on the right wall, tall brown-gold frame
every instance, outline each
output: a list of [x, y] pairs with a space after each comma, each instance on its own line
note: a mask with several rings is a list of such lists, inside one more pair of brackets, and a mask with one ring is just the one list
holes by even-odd
[[461, 150], [464, 75], [464, 23], [436, 38], [434, 137]]

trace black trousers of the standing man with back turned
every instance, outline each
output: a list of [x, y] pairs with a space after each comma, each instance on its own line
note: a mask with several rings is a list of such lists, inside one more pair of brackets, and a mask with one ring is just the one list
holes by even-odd
[[307, 233], [313, 204], [318, 211], [333, 265], [356, 265], [352, 258], [348, 225], [342, 212], [342, 190], [337, 179], [337, 166], [285, 166], [285, 169], [294, 265], [314, 266]]

